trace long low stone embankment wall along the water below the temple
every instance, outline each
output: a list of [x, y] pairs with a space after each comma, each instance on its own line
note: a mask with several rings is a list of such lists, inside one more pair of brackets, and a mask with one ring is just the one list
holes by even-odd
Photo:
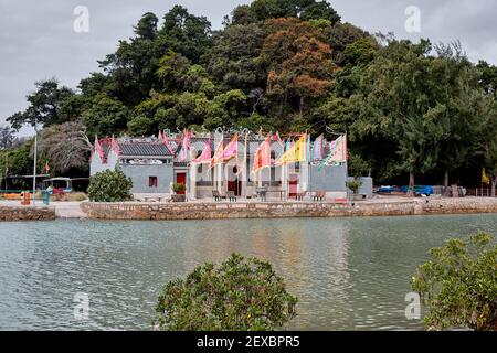
[[237, 202], [237, 203], [91, 203], [81, 205], [95, 220], [220, 220], [394, 216], [497, 213], [497, 199], [443, 199], [405, 202]]

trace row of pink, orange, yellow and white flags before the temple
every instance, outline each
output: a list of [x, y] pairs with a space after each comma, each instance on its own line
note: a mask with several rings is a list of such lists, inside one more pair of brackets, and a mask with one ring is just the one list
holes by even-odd
[[[188, 160], [189, 151], [192, 149], [193, 133], [184, 130], [182, 133], [180, 152], [178, 160], [184, 162]], [[211, 139], [208, 140], [200, 156], [191, 162], [197, 164], [210, 164], [214, 167], [228, 162], [239, 156], [239, 133], [232, 136], [230, 142], [224, 146], [224, 139], [221, 138], [212, 153]], [[159, 139], [172, 151], [170, 141], [166, 133], [159, 132]], [[283, 147], [283, 153], [274, 161], [271, 157], [271, 142], [276, 141]], [[247, 136], [245, 136], [244, 153], [247, 153]], [[309, 133], [300, 133], [286, 140], [279, 137], [279, 133], [268, 135], [257, 147], [254, 153], [253, 172], [258, 172], [264, 168], [272, 165], [286, 165], [289, 163], [310, 162], [319, 167], [345, 163], [348, 160], [347, 137], [339, 136], [332, 141], [326, 141], [324, 135], [317, 137], [311, 142]]]

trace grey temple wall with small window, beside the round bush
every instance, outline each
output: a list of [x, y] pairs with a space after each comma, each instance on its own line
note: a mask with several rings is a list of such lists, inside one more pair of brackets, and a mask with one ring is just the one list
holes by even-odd
[[[133, 193], [167, 193], [173, 182], [172, 164], [118, 164], [126, 176], [131, 178]], [[157, 176], [157, 188], [149, 188], [149, 176]]]

